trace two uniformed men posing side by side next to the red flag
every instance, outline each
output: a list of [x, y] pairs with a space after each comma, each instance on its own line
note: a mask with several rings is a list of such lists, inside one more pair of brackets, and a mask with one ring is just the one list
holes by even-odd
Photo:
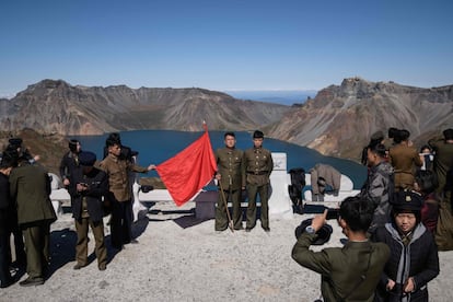
[[[249, 232], [256, 225], [257, 197], [260, 201], [260, 223], [265, 232], [269, 226], [269, 186], [270, 173], [274, 169], [272, 156], [269, 150], [263, 147], [264, 133], [256, 130], [253, 133], [253, 147], [239, 150], [234, 132], [224, 133], [224, 148], [216, 150], [218, 171], [216, 179], [219, 182], [219, 199], [216, 208], [214, 229], [218, 232], [228, 229], [243, 230], [241, 201], [246, 189], [248, 206], [246, 211], [245, 231]], [[233, 217], [228, 212], [228, 202], [231, 200]]]

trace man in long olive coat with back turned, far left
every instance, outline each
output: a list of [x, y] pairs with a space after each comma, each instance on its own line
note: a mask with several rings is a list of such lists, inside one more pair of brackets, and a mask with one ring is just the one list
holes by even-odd
[[44, 284], [49, 262], [50, 224], [57, 220], [49, 198], [50, 178], [40, 165], [20, 159], [10, 174], [10, 194], [18, 207], [18, 221], [25, 239], [26, 272], [20, 286]]

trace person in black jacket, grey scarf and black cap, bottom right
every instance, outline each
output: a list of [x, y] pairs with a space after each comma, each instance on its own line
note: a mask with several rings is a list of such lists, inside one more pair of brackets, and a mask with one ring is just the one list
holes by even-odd
[[391, 248], [375, 301], [429, 301], [427, 283], [439, 275], [439, 255], [432, 233], [421, 223], [422, 204], [413, 190], [392, 199], [392, 222], [375, 236]]

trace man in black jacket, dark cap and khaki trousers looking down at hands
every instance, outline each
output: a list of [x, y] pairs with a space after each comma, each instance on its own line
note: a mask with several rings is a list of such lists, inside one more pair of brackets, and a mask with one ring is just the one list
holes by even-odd
[[102, 197], [108, 193], [108, 177], [105, 172], [94, 167], [96, 155], [82, 151], [79, 154], [81, 169], [70, 175], [69, 194], [72, 197], [72, 214], [76, 221], [77, 245], [74, 269], [88, 265], [89, 225], [94, 235], [97, 267], [107, 267], [107, 249], [104, 243], [104, 211]]

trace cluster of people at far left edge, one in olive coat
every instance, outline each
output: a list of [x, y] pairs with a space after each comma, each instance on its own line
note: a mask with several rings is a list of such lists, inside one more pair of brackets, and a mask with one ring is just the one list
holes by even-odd
[[19, 282], [30, 287], [44, 283], [48, 269], [50, 224], [57, 219], [49, 199], [50, 178], [23, 149], [22, 139], [9, 140], [0, 163], [0, 287], [15, 280], [10, 272], [14, 235], [15, 265], [25, 266], [28, 277]]

